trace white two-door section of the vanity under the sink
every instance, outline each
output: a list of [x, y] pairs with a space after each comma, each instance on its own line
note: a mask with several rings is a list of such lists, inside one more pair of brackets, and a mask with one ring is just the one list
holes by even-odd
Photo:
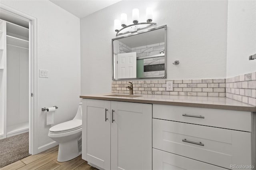
[[82, 99], [82, 158], [104, 170], [152, 169], [152, 105]]

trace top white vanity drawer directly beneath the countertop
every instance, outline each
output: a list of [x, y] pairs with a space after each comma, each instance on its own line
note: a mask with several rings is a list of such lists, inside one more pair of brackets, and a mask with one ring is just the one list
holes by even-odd
[[171, 105], [154, 105], [153, 118], [251, 132], [252, 113]]

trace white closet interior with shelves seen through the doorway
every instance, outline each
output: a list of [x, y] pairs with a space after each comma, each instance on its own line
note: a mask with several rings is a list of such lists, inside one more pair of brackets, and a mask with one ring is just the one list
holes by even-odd
[[28, 132], [29, 29], [0, 20], [0, 139]]

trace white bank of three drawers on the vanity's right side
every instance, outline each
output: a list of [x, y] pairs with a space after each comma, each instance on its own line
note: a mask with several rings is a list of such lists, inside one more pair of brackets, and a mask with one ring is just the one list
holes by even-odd
[[250, 112], [153, 104], [153, 170], [250, 166], [251, 130]]

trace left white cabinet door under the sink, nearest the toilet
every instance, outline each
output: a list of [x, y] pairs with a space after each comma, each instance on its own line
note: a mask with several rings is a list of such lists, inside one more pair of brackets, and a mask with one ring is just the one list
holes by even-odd
[[110, 101], [83, 99], [82, 125], [82, 158], [110, 170]]

